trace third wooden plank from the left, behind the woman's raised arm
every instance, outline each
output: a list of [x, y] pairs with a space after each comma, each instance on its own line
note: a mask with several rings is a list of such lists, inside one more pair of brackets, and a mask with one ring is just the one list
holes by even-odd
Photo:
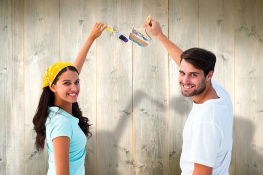
[[[74, 62], [95, 24], [95, 0], [62, 0], [60, 11], [60, 60]], [[92, 137], [86, 144], [85, 174], [97, 174], [95, 51], [94, 42], [80, 74], [78, 98], [83, 115], [92, 124]]]

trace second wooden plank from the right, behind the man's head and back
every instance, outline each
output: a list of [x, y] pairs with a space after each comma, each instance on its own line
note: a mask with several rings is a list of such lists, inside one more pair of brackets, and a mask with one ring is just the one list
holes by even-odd
[[[199, 47], [216, 55], [213, 79], [222, 84], [234, 101], [234, 1], [199, 0], [198, 43]], [[234, 127], [233, 148], [229, 174], [234, 174]]]

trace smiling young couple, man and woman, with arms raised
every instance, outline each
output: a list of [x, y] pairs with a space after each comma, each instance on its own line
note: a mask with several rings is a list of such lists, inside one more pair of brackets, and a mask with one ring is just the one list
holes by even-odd
[[[89, 120], [82, 116], [77, 103], [79, 73], [93, 41], [106, 26], [96, 23], [74, 64], [58, 62], [43, 77], [43, 92], [33, 118], [36, 146], [49, 152], [48, 174], [84, 174], [86, 136]], [[228, 174], [232, 149], [233, 107], [229, 94], [211, 80], [215, 55], [201, 48], [184, 52], [152, 20], [147, 29], [165, 46], [179, 65], [178, 81], [182, 94], [193, 100], [192, 110], [183, 129], [180, 158], [182, 174]]]

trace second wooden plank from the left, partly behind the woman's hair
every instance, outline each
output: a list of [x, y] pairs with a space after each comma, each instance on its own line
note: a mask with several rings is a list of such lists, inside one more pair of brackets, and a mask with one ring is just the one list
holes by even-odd
[[[59, 61], [59, 1], [25, 0], [25, 174], [47, 174], [47, 149], [35, 148], [32, 119], [42, 93], [43, 74]], [[46, 147], [46, 145], [45, 145]]]

